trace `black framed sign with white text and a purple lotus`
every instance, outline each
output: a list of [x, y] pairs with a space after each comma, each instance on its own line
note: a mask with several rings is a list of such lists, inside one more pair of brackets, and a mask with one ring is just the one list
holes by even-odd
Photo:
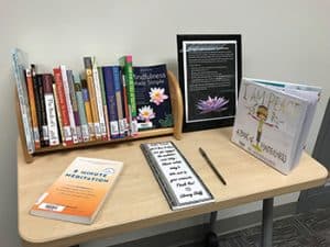
[[233, 124], [242, 77], [241, 35], [177, 35], [183, 131]]

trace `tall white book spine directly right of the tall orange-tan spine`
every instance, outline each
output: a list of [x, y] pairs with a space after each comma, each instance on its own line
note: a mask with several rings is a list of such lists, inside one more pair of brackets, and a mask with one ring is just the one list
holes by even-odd
[[96, 92], [96, 102], [99, 112], [99, 120], [100, 120], [100, 132], [103, 141], [107, 141], [107, 127], [105, 121], [105, 113], [103, 113], [103, 103], [102, 103], [102, 94], [101, 94], [101, 86], [100, 86], [100, 77], [99, 71], [96, 63], [96, 58], [94, 57], [92, 63], [92, 76], [94, 76], [94, 86]]

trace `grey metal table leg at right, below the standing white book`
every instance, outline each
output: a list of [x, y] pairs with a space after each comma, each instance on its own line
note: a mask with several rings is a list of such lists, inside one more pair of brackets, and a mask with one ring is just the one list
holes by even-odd
[[263, 201], [262, 247], [272, 247], [273, 243], [273, 205], [274, 198]]

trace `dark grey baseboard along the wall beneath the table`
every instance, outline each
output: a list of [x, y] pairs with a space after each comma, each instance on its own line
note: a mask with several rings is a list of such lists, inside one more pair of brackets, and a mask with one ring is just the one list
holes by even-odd
[[[296, 214], [297, 202], [278, 205], [274, 207], [274, 218], [282, 218], [293, 214]], [[262, 221], [262, 211], [256, 211], [235, 217], [220, 220], [216, 223], [216, 233], [218, 235], [223, 235], [230, 232], [235, 232], [250, 226], [258, 225]], [[204, 239], [205, 234], [209, 231], [209, 225], [196, 225], [191, 227], [186, 227], [165, 234], [158, 234], [152, 237], [146, 237], [142, 239], [136, 239], [133, 242], [128, 242], [119, 245], [113, 245], [111, 247], [175, 247], [185, 244], [190, 244], [195, 242], [200, 242]]]

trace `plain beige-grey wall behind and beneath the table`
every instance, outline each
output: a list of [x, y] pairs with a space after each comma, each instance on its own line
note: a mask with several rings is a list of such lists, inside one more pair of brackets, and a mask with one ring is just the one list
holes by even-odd
[[[113, 64], [120, 55], [132, 53], [135, 64], [167, 63], [176, 71], [177, 33], [241, 33], [244, 76], [323, 87], [308, 141], [308, 150], [312, 150], [330, 94], [329, 1], [0, 0], [0, 3], [1, 247], [18, 246], [16, 124], [9, 59], [13, 46], [28, 52], [31, 61], [44, 70], [59, 63], [81, 69], [81, 57], [86, 54], [95, 54], [100, 63]], [[297, 193], [277, 199], [279, 204], [295, 200]], [[258, 207], [260, 203], [253, 203], [222, 212], [221, 216]], [[187, 221], [182, 226], [199, 221], [205, 218]], [[136, 238], [172, 227], [130, 236]], [[118, 238], [119, 242], [124, 237]]]

